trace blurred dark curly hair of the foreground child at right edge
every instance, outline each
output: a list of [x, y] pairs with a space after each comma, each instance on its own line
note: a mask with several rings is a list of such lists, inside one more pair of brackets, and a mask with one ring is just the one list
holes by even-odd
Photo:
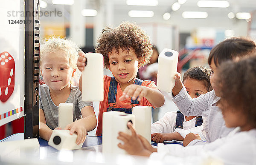
[[223, 63], [217, 75], [221, 109], [225, 110], [225, 106], [234, 111], [240, 109], [256, 128], [256, 54], [238, 62]]

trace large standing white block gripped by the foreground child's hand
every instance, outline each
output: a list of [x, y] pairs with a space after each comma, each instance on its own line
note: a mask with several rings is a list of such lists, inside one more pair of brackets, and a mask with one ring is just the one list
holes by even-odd
[[127, 154], [117, 145], [122, 141], [117, 139], [119, 132], [131, 135], [127, 123], [131, 121], [135, 125], [135, 116], [123, 112], [110, 111], [103, 113], [102, 121], [102, 152], [113, 154]]

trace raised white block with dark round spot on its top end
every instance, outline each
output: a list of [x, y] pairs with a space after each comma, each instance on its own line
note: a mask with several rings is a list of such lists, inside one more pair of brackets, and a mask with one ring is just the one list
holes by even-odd
[[175, 85], [173, 78], [177, 72], [179, 53], [164, 48], [158, 56], [157, 88], [160, 91], [171, 92]]

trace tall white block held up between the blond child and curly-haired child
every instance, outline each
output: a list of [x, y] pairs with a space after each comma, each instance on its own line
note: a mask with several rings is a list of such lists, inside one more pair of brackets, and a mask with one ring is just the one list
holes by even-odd
[[85, 54], [87, 64], [82, 72], [82, 100], [103, 101], [103, 56], [100, 53]]

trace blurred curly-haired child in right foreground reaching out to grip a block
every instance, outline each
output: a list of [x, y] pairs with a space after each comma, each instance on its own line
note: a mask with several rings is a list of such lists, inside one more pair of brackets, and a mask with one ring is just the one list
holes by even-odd
[[[137, 135], [128, 122], [132, 135], [119, 132], [119, 148], [129, 154], [150, 156], [165, 163], [206, 164], [218, 162], [225, 165], [256, 164], [256, 54], [239, 62], [228, 61], [219, 66], [212, 80], [218, 96], [217, 102], [225, 124], [235, 128], [227, 137], [205, 145], [183, 147], [159, 143], [153, 148], [142, 136]], [[192, 134], [192, 133], [191, 133]]]

